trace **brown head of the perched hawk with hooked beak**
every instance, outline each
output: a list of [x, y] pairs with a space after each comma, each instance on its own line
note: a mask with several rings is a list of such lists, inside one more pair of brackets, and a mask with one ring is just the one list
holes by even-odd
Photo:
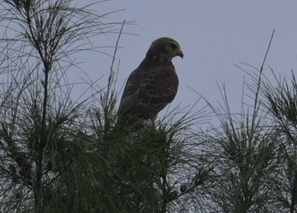
[[158, 38], [153, 41], [146, 55], [153, 58], [165, 57], [170, 61], [176, 56], [184, 58], [179, 44], [175, 40], [167, 37]]

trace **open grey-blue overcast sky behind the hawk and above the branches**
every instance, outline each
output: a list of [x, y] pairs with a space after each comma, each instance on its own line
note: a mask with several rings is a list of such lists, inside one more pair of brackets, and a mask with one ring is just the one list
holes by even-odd
[[[83, 1], [84, 4], [94, 1]], [[82, 4], [82, 2], [79, 2]], [[268, 66], [277, 73], [290, 76], [297, 66], [297, 1], [271, 0], [137, 0], [107, 1], [92, 7], [100, 14], [125, 9], [107, 16], [103, 22], [134, 21], [125, 25], [117, 60], [120, 60], [118, 87], [143, 60], [151, 42], [159, 37], [175, 39], [184, 51], [184, 59], [173, 60], [180, 84], [171, 107], [181, 103], [193, 104], [199, 96], [193, 88], [211, 103], [221, 100], [217, 82], [224, 82], [232, 109], [240, 111], [244, 75], [234, 64], [245, 62], [260, 68], [273, 29], [272, 41], [264, 74]], [[101, 36], [95, 45], [115, 45], [116, 34]], [[98, 43], [97, 43], [98, 42]], [[112, 54], [113, 49], [106, 52]], [[87, 53], [80, 58], [81, 67], [94, 78], [107, 76], [111, 59]], [[246, 71], [255, 70], [240, 65]], [[75, 74], [73, 77], [79, 75]], [[106, 85], [106, 77], [99, 81]], [[188, 87], [187, 87], [188, 86]], [[201, 108], [203, 103], [197, 105]]]

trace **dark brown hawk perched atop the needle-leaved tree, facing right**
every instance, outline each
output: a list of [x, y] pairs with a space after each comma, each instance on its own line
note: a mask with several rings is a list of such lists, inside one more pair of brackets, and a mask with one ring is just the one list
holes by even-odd
[[127, 79], [118, 111], [121, 124], [155, 119], [174, 99], [178, 77], [172, 59], [176, 56], [184, 58], [175, 40], [163, 37], [152, 42], [145, 59]]

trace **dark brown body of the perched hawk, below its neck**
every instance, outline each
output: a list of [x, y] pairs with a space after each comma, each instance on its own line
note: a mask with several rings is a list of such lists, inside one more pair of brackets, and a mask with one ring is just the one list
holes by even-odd
[[120, 117], [150, 119], [170, 103], [178, 88], [174, 66], [139, 67], [129, 76], [119, 107]]

